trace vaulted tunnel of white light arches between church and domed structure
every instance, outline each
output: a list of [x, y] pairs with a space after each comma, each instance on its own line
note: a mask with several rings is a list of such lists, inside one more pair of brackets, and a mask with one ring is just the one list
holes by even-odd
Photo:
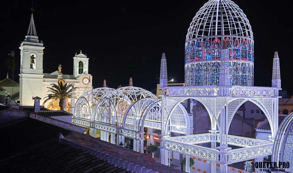
[[[181, 104], [174, 110], [168, 129], [189, 134], [187, 111]], [[147, 90], [134, 86], [119, 89], [102, 87], [81, 95], [75, 104], [74, 123], [111, 133], [111, 136], [141, 141], [144, 127], [161, 129], [161, 112], [161, 99]], [[115, 143], [118, 144], [118, 140]], [[143, 143], [140, 144], [142, 146]], [[136, 150], [139, 151], [139, 146]]]

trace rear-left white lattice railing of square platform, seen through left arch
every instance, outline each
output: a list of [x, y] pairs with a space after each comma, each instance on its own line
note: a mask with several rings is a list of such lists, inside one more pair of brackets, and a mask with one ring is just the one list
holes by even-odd
[[211, 142], [211, 134], [196, 134], [196, 135], [188, 135], [188, 136], [176, 136], [167, 138], [171, 141], [177, 141], [186, 144], [198, 144], [198, 143], [206, 143]]

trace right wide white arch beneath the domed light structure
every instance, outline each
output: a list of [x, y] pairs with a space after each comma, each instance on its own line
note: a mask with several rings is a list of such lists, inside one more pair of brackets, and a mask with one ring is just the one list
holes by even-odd
[[[229, 111], [229, 104], [231, 104], [233, 101], [237, 101], [237, 100], [243, 100], [241, 101], [237, 106], [236, 108], [233, 110], [233, 113], [231, 114], [231, 117], [229, 117], [229, 112], [228, 112], [228, 126], [227, 126], [227, 130], [229, 130], [230, 128], [230, 125], [231, 125], [231, 122], [232, 122], [232, 119], [235, 115], [235, 113], [237, 112], [237, 110], [240, 108], [241, 105], [243, 105], [246, 101], [250, 101], [252, 103], [254, 103], [256, 106], [258, 106], [258, 108], [260, 108], [263, 113], [265, 114], [265, 116], [267, 117], [268, 119], [268, 122], [270, 123], [270, 128], [271, 128], [271, 132], [272, 132], [272, 136], [275, 136], [274, 134], [274, 125], [273, 125], [273, 122], [272, 122], [272, 119], [271, 117], [268, 115], [268, 110], [265, 108], [265, 105], [263, 105], [259, 100], [255, 99], [255, 98], [247, 98], [247, 99], [243, 99], [243, 98], [236, 98], [236, 99], [233, 99], [231, 101], [228, 102], [228, 111]], [[257, 100], [258, 103], [255, 101]]]

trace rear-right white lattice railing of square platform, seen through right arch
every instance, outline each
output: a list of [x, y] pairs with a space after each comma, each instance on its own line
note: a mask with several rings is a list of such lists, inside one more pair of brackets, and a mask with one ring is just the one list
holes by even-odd
[[[217, 134], [217, 141], [220, 142], [220, 134]], [[260, 139], [252, 139], [240, 136], [228, 135], [228, 144], [240, 147], [253, 147], [259, 146], [267, 143], [272, 143], [271, 141], [265, 141]]]

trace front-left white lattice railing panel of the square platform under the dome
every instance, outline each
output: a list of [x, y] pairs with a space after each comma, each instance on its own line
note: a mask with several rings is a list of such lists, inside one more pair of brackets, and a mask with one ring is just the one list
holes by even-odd
[[186, 144], [168, 139], [164, 140], [164, 149], [176, 151], [190, 156], [197, 156], [210, 161], [216, 161], [217, 152], [219, 151], [211, 148]]

